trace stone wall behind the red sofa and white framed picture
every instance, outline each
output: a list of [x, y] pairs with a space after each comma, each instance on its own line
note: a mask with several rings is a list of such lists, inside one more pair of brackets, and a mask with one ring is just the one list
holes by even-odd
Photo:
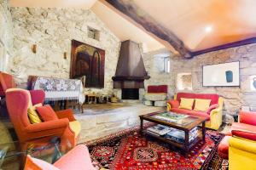
[[[153, 57], [160, 54], [164, 49], [156, 52], [143, 54], [146, 70], [151, 79], [147, 84], [169, 84], [169, 95], [177, 93], [177, 74], [183, 72], [192, 73], [193, 92], [195, 93], [217, 93], [224, 97], [224, 114], [234, 115], [241, 106], [256, 107], [256, 92], [250, 89], [250, 76], [256, 75], [256, 44], [250, 44], [237, 48], [228, 48], [207, 54], [195, 56], [193, 59], [182, 59], [171, 56], [171, 73], [155, 73], [153, 69]], [[225, 62], [240, 61], [240, 87], [202, 87], [202, 66], [220, 64]]]

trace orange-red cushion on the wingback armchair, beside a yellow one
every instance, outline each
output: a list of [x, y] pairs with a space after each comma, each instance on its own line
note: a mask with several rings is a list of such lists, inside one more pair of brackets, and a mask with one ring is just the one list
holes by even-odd
[[58, 117], [56, 116], [55, 111], [53, 111], [50, 105], [37, 107], [37, 111], [38, 111], [38, 114], [44, 120], [44, 122], [58, 120]]

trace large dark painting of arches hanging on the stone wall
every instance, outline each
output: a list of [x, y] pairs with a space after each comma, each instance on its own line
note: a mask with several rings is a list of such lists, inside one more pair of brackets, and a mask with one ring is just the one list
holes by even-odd
[[86, 88], [104, 88], [105, 50], [72, 40], [70, 77], [86, 76]]

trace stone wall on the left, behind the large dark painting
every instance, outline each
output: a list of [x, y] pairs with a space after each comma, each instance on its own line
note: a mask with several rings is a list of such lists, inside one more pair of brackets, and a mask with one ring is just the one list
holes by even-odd
[[[105, 50], [105, 88], [101, 92], [112, 93], [119, 38], [96, 14], [72, 8], [11, 8], [11, 14], [15, 54], [9, 69], [17, 82], [26, 82], [29, 75], [68, 78], [71, 40], [75, 39]], [[99, 41], [88, 37], [88, 26], [100, 31]], [[32, 53], [33, 44], [37, 45], [36, 54]]]

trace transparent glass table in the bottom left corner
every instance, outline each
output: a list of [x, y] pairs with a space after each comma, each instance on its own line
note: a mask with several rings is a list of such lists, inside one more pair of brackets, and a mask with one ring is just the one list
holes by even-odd
[[[24, 147], [25, 145], [26, 147]], [[72, 148], [68, 142], [64, 145], [61, 144], [59, 137], [38, 139], [36, 142], [20, 143], [15, 141], [0, 144], [0, 170], [23, 169], [27, 155], [52, 164]]]

